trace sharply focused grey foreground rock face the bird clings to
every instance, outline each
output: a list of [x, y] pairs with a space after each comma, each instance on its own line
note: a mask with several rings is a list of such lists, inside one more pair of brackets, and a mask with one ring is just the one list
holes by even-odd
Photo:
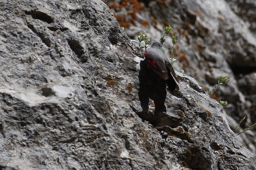
[[1, 169], [256, 168], [223, 107], [189, 76], [178, 73], [166, 113], [152, 102], [140, 112], [143, 53], [102, 1], [0, 9]]

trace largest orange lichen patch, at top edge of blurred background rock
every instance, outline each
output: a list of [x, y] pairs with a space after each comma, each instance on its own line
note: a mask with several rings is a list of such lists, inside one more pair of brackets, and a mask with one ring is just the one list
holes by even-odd
[[127, 10], [129, 17], [123, 16], [123, 19], [120, 19], [120, 17], [117, 19], [124, 28], [130, 27], [130, 24], [127, 22], [132, 22], [133, 25], [136, 25], [137, 13], [141, 13], [143, 9], [142, 2], [138, 2], [137, 0], [124, 0], [120, 5], [113, 3], [108, 5], [108, 7], [110, 9], [125, 8]]

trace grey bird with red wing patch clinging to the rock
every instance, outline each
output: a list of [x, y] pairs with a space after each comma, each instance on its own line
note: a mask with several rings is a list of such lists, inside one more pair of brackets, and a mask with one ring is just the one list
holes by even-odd
[[[162, 79], [164, 79], [170, 89], [170, 91], [179, 90], [179, 86], [175, 80], [179, 83], [179, 79], [174, 72], [174, 69], [166, 58], [164, 52], [161, 50], [161, 44], [154, 42], [152, 46], [146, 50], [145, 59], [148, 66]], [[174, 79], [175, 80], [174, 80]]]

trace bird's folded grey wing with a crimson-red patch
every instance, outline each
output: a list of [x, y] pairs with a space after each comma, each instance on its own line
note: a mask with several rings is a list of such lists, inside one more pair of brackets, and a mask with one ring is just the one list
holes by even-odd
[[145, 59], [148, 65], [151, 67], [151, 69], [155, 73], [157, 73], [162, 79], [166, 80], [168, 79], [168, 74], [165, 66], [165, 61], [163, 60], [163, 58], [159, 58], [158, 55], [161, 55], [161, 53], [154, 54], [154, 52], [146, 51], [144, 54]]

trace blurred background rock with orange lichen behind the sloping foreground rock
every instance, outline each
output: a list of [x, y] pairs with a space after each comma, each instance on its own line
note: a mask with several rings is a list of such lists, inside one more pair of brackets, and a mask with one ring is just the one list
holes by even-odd
[[[131, 39], [136, 39], [137, 35], [144, 32], [152, 42], [158, 41], [164, 26], [170, 24], [174, 28], [171, 35], [179, 40], [174, 46], [174, 58], [179, 63], [173, 67], [178, 71], [183, 68], [185, 74], [196, 79], [204, 89], [212, 89], [219, 76], [228, 76], [227, 85], [217, 88], [213, 98], [228, 101], [229, 105], [224, 107], [226, 116], [233, 117], [236, 124], [251, 113], [242, 128], [256, 122], [256, 1], [107, 2], [120, 25], [126, 27], [126, 34]], [[130, 22], [129, 28], [126, 22]], [[171, 47], [169, 36], [164, 43], [167, 56]], [[236, 127], [232, 123], [229, 125], [232, 129]], [[246, 134], [242, 135], [241, 142], [256, 155], [255, 135], [250, 132]]]

